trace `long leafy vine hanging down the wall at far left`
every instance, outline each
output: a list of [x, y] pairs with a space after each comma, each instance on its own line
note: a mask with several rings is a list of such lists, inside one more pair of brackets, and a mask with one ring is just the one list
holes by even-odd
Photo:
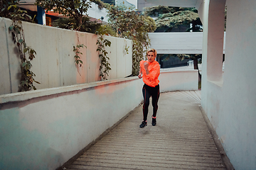
[[[36, 74], [31, 71], [31, 61], [35, 58], [36, 51], [26, 45], [21, 22], [31, 21], [31, 16], [28, 16], [26, 11], [18, 8], [18, 2], [19, 1], [5, 1], [5, 6], [2, 6], [3, 4], [1, 4], [1, 15], [11, 18], [13, 21], [12, 25], [9, 26], [9, 32], [13, 37], [14, 43], [17, 45], [18, 55], [21, 59], [21, 81], [19, 84], [19, 91], [36, 90], [33, 82], [40, 83], [34, 79]], [[28, 59], [26, 58], [26, 55], [28, 55]]]

